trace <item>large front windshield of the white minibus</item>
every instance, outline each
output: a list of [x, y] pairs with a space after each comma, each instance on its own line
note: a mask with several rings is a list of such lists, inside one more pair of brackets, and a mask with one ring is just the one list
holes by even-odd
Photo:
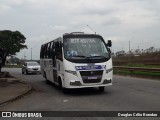
[[68, 38], [64, 41], [67, 59], [108, 59], [109, 52], [100, 38]]

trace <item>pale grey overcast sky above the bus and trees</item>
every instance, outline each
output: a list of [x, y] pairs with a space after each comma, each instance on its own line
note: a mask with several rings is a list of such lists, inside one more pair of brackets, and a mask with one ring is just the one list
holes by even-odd
[[[18, 30], [31, 59], [40, 46], [64, 33], [83, 31], [112, 40], [114, 52], [160, 48], [160, 0], [0, 0], [0, 30]], [[90, 26], [89, 29], [87, 25]], [[93, 32], [94, 31], [94, 32]]]

